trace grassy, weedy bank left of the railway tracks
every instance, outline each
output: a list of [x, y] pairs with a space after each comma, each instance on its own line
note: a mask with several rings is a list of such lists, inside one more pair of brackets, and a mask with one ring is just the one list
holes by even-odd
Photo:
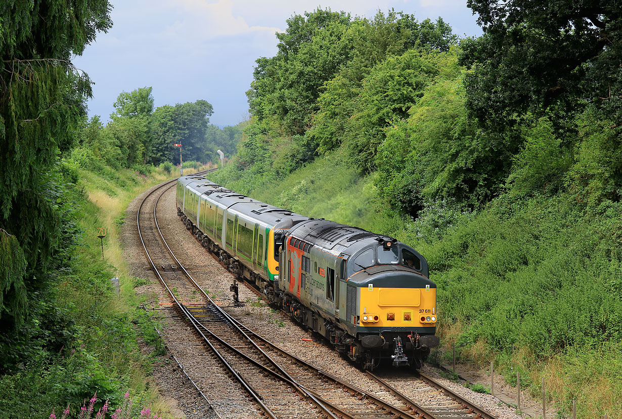
[[[58, 283], [52, 287], [55, 309], [65, 319], [63, 329], [55, 332], [66, 335], [66, 345], [60, 352], [40, 351], [16, 374], [0, 376], [0, 417], [43, 418], [53, 408], [60, 417], [68, 403], [70, 417], [74, 413], [78, 417], [83, 401], [88, 405], [95, 392], [95, 412], [105, 400], [114, 410], [128, 392], [134, 400], [132, 417], [138, 417], [142, 407], [170, 417], [149, 378], [154, 358], [142, 354], [138, 346], [142, 337], [156, 346], [152, 354], [162, 351], [154, 321], [137, 308], [142, 298], [134, 293], [136, 278], [129, 274], [119, 235], [129, 202], [145, 189], [174, 178], [175, 172], [95, 174], [76, 167], [72, 171], [79, 180], [68, 189], [67, 199], [75, 207], [73, 220], [80, 233], [70, 250], [68, 267], [58, 273]], [[104, 259], [100, 227], [106, 228]], [[119, 294], [111, 285], [115, 277], [121, 286]]]

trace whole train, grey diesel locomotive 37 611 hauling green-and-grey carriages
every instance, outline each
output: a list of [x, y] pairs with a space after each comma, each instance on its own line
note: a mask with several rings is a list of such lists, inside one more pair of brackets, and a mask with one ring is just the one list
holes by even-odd
[[177, 213], [237, 278], [373, 370], [422, 367], [436, 337], [425, 258], [396, 239], [259, 202], [205, 177], [177, 181]]

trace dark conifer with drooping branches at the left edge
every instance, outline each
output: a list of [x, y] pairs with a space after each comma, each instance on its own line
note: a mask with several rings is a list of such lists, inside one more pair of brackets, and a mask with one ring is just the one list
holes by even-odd
[[0, 5], [0, 323], [19, 325], [26, 293], [45, 278], [59, 245], [57, 192], [47, 172], [74, 141], [91, 95], [73, 67], [111, 26], [107, 0]]

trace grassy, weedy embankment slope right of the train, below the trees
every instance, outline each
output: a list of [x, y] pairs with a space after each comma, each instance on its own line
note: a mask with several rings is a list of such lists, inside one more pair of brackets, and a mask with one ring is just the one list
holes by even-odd
[[447, 362], [455, 344], [460, 362], [494, 360], [508, 383], [521, 372], [534, 396], [544, 377], [559, 417], [573, 399], [578, 417], [622, 417], [622, 204], [507, 194], [479, 212], [439, 205], [404, 219], [383, 209], [373, 175], [338, 161], [317, 159], [249, 195], [419, 250], [439, 286], [435, 357]]

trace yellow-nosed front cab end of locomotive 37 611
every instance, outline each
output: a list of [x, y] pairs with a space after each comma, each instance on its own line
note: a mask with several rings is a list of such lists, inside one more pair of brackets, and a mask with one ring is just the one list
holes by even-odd
[[[346, 281], [348, 334], [355, 337], [349, 352], [366, 369], [380, 362], [419, 369], [439, 344], [436, 285], [427, 262], [412, 248], [397, 247], [378, 245], [368, 263], [356, 255], [348, 260], [354, 271]], [[371, 253], [363, 248], [358, 255]]]

